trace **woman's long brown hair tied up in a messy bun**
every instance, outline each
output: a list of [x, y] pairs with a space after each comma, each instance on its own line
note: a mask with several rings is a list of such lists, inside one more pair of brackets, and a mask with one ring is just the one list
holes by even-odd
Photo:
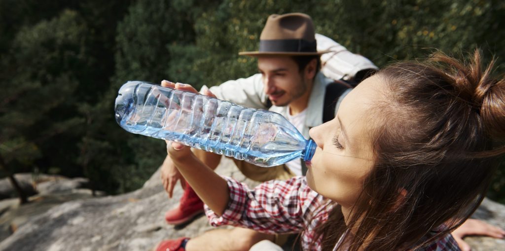
[[505, 80], [492, 65], [483, 70], [476, 50], [470, 62], [436, 53], [379, 71], [387, 102], [370, 111], [374, 168], [347, 224], [335, 207], [313, 241], [331, 250], [353, 228], [349, 250], [416, 249], [461, 225], [505, 153]]

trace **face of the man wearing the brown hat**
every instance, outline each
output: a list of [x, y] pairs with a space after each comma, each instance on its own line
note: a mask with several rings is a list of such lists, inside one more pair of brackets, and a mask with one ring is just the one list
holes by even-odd
[[290, 57], [259, 57], [264, 91], [275, 106], [287, 106], [305, 94], [309, 80]]

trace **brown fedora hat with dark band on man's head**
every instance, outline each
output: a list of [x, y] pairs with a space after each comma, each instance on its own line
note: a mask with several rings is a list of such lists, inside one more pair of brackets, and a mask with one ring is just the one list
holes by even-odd
[[260, 35], [258, 52], [240, 52], [246, 56], [310, 56], [331, 51], [317, 51], [314, 25], [309, 15], [288, 13], [270, 15]]

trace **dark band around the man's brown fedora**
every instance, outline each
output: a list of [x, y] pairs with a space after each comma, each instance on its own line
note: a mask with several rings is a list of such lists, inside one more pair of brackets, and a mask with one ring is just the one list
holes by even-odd
[[313, 53], [317, 52], [317, 42], [304, 39], [260, 40], [260, 52]]

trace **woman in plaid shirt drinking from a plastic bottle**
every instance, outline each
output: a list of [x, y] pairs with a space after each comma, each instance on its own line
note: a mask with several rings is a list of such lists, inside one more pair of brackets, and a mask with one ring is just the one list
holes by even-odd
[[[505, 153], [505, 81], [443, 55], [391, 65], [312, 128], [307, 177], [247, 189], [169, 144], [213, 225], [299, 232], [307, 250], [459, 250], [450, 231], [481, 203]], [[329, 136], [331, 135], [331, 137]]]

